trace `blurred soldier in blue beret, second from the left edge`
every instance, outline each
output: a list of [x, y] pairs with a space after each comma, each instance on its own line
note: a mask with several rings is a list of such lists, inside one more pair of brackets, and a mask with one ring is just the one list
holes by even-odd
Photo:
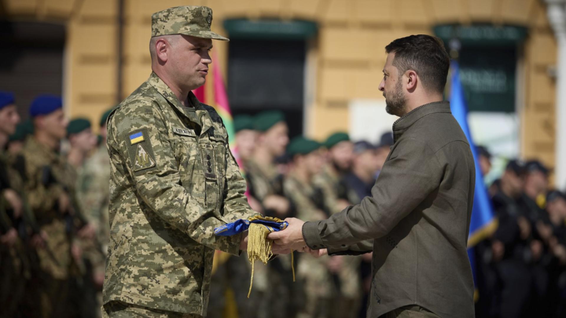
[[66, 135], [67, 121], [62, 100], [55, 96], [37, 97], [29, 109], [34, 134], [23, 149], [25, 192], [41, 230], [47, 234], [45, 248], [37, 249], [41, 300], [44, 317], [65, 317], [70, 278], [76, 273], [71, 255], [72, 231], [80, 212], [73, 207], [72, 167], [59, 153]]

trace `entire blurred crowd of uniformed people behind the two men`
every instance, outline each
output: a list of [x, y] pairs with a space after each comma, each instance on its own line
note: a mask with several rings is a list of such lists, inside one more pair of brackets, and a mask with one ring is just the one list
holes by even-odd
[[[106, 111], [67, 121], [61, 98], [39, 96], [19, 122], [0, 93], [0, 310], [2, 317], [98, 317], [109, 236]], [[328, 218], [371, 195], [395, 139], [289, 139], [279, 111], [234, 117], [248, 201], [265, 216]], [[100, 126], [100, 135], [92, 132]], [[478, 147], [483, 174], [491, 155]], [[489, 185], [496, 223], [474, 249], [478, 317], [566, 316], [566, 196], [550, 167], [509, 158]], [[278, 256], [251, 265], [217, 252], [208, 317], [365, 317], [371, 253]]]

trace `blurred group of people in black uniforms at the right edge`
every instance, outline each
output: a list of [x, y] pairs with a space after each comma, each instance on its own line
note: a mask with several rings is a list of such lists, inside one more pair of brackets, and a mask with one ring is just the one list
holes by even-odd
[[[482, 173], [491, 154], [479, 147]], [[566, 317], [566, 195], [550, 169], [511, 160], [491, 184], [496, 226], [475, 246], [478, 317]]]

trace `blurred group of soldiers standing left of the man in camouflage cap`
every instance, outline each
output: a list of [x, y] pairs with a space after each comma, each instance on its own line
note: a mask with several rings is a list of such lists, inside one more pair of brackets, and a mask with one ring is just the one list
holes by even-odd
[[[98, 317], [108, 241], [105, 117], [93, 135], [43, 95], [0, 92], [0, 317]], [[98, 147], [97, 147], [98, 145]]]

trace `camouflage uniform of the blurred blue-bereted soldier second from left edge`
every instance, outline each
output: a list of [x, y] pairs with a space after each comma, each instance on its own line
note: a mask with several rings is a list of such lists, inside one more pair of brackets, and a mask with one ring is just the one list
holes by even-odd
[[[27, 181], [24, 188], [29, 207], [35, 214], [37, 224], [48, 235], [46, 249], [37, 250], [40, 268], [58, 280], [67, 279], [73, 264], [71, 256], [71, 238], [67, 234], [65, 218], [57, 207], [59, 196], [74, 189], [74, 169], [68, 162], [45, 145], [30, 136], [25, 141], [22, 155], [25, 160]], [[42, 182], [42, 169], [49, 166], [57, 183]], [[51, 254], [51, 255], [50, 255]]]

